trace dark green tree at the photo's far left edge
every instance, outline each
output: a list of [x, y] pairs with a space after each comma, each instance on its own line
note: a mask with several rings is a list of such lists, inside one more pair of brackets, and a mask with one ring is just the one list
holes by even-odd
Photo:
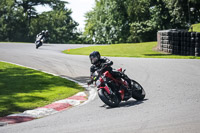
[[26, 30], [23, 21], [22, 8], [15, 5], [13, 0], [0, 1], [0, 40], [21, 41]]

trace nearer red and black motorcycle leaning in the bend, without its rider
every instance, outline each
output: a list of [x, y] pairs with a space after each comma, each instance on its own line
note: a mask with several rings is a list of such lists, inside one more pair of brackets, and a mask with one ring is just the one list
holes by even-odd
[[[103, 69], [97, 72], [98, 74], [94, 76], [93, 81], [95, 81], [95, 85], [98, 88], [100, 99], [106, 105], [117, 107], [121, 101], [127, 101], [130, 98], [136, 100], [144, 99], [146, 93], [138, 82], [131, 80], [131, 89], [128, 89], [127, 81], [121, 78], [114, 78], [109, 71], [102, 73]], [[122, 72], [122, 68], [118, 69], [118, 71]], [[122, 73], [124, 74], [124, 72], [125, 70]]]

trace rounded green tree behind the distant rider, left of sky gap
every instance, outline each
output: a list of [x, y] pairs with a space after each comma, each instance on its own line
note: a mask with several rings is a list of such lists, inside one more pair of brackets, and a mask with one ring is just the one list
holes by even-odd
[[50, 32], [49, 42], [75, 43], [79, 34], [76, 32], [78, 23], [71, 18], [71, 10], [65, 8], [64, 3], [53, 7], [52, 11], [44, 12], [31, 22], [31, 37], [44, 29]]

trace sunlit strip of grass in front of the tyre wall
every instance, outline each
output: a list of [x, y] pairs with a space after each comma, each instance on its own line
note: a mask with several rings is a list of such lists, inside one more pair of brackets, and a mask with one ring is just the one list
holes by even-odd
[[83, 47], [71, 50], [64, 50], [66, 54], [89, 55], [92, 51], [99, 51], [102, 56], [112, 57], [142, 57], [142, 58], [177, 58], [177, 59], [200, 59], [195, 56], [178, 56], [160, 53], [153, 50], [157, 42], [132, 43], [132, 44], [113, 44]]

